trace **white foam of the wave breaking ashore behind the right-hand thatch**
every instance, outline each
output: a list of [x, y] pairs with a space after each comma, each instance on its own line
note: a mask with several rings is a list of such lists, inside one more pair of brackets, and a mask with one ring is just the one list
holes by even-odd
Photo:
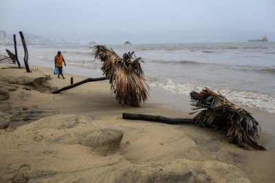
[[[203, 89], [203, 87], [199, 87], [195, 85], [174, 83], [172, 80], [168, 80], [165, 83], [158, 83], [156, 81], [149, 80], [149, 86], [163, 88], [176, 94], [185, 94], [188, 96], [192, 91], [200, 92], [201, 89]], [[232, 89], [225, 89], [225, 88], [223, 89], [213, 88], [213, 87], [209, 87], [209, 88], [212, 89], [213, 91], [216, 91], [216, 92], [218, 91], [233, 103], [262, 109], [270, 113], [275, 113], [275, 96], [270, 96], [267, 94], [258, 94], [255, 92], [248, 92], [248, 91], [236, 91], [236, 90], [232, 91]]]

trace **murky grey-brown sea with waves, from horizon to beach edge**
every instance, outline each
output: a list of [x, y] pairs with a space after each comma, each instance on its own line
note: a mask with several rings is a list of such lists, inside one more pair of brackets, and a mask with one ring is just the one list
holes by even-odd
[[[275, 43], [107, 46], [120, 56], [134, 51], [142, 57], [142, 69], [151, 87], [183, 95], [209, 87], [234, 103], [275, 113]], [[12, 46], [1, 45], [0, 54], [6, 54], [6, 48], [14, 52]], [[23, 64], [23, 48], [18, 50]], [[101, 76], [101, 63], [94, 60], [88, 45], [28, 46], [29, 64], [54, 67], [58, 50], [71, 71], [85, 67]]]

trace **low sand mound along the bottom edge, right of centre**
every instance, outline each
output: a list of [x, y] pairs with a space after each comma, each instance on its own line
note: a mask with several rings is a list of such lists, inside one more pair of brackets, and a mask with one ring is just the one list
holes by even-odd
[[250, 182], [236, 166], [217, 161], [174, 160], [132, 166], [116, 182]]

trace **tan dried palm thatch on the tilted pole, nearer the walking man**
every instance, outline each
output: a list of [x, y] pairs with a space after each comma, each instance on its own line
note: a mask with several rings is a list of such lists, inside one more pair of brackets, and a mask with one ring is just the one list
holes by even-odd
[[111, 48], [95, 45], [94, 55], [102, 61], [101, 70], [109, 79], [118, 103], [139, 107], [140, 102], [147, 99], [148, 85], [140, 65], [141, 58], [133, 59], [134, 52], [125, 53], [121, 58]]

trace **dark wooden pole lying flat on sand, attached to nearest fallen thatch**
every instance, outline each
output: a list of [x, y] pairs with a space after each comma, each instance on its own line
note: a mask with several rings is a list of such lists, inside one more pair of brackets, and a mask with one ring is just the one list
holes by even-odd
[[192, 119], [188, 119], [188, 118], [166, 118], [164, 116], [152, 116], [152, 115], [146, 115], [146, 114], [123, 113], [122, 118], [126, 120], [146, 120], [146, 121], [153, 121], [153, 122], [163, 122], [171, 125], [176, 125], [181, 123], [195, 124], [195, 122]]

